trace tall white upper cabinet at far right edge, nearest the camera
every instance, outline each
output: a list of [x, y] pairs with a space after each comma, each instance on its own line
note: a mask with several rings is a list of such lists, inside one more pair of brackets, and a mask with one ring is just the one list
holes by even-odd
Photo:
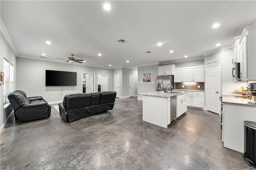
[[243, 81], [256, 80], [256, 25], [245, 27], [240, 41], [240, 74]]

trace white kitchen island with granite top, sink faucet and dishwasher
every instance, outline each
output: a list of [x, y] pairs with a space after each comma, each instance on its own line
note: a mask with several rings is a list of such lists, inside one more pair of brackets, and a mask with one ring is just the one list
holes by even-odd
[[[171, 93], [158, 91], [139, 94], [143, 96], [142, 120], [167, 128], [173, 119], [186, 112], [186, 94], [187, 92], [181, 91], [172, 91]], [[174, 100], [175, 105], [173, 104]]]

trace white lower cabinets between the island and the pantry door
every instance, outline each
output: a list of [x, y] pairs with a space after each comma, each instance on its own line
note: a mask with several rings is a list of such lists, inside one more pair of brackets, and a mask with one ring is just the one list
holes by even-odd
[[187, 106], [204, 108], [204, 92], [188, 92]]

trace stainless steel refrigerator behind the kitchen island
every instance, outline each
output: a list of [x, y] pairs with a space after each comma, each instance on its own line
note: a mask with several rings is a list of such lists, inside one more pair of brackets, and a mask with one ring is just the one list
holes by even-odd
[[[173, 75], [170, 76], [157, 76], [156, 77], [156, 91], [167, 90], [167, 85], [172, 84], [174, 89]], [[169, 85], [170, 90], [170, 85]]]

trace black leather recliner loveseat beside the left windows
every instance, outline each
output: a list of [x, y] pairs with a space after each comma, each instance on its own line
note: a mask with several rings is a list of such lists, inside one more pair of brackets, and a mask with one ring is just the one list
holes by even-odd
[[22, 90], [16, 90], [8, 95], [8, 100], [19, 121], [44, 119], [51, 115], [52, 107], [41, 96], [27, 97]]

